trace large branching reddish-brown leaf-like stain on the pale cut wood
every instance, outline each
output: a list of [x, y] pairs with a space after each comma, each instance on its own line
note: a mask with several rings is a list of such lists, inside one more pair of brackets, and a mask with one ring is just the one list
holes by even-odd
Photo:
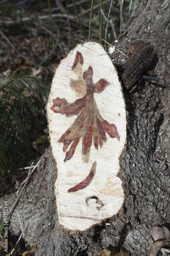
[[92, 67], [89, 66], [88, 70], [83, 73], [83, 63], [83, 56], [77, 51], [74, 65], [71, 69], [76, 72], [79, 78], [82, 77], [82, 80], [71, 79], [70, 87], [78, 91], [81, 89], [82, 84], [83, 86], [86, 84], [86, 95], [76, 100], [74, 103], [68, 103], [66, 99], [57, 97], [53, 99], [54, 104], [51, 108], [55, 113], [65, 114], [66, 117], [78, 115], [75, 122], [58, 140], [58, 142], [63, 143], [63, 152], [65, 152], [70, 145], [69, 150], [66, 152], [64, 162], [71, 159], [74, 155], [81, 138], [83, 139], [82, 153], [85, 156], [90, 151], [92, 139], [96, 150], [98, 150], [99, 145], [102, 147], [103, 142], [107, 141], [106, 133], [111, 138], [117, 138], [119, 140], [116, 125], [110, 124], [102, 118], [93, 97], [94, 93], [103, 92], [110, 83], [105, 79], [100, 79], [94, 84], [92, 80]]

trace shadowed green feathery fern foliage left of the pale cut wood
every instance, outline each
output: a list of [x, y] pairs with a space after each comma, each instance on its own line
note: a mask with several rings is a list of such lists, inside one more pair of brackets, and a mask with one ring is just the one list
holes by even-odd
[[41, 127], [36, 112], [44, 108], [49, 89], [41, 79], [22, 74], [1, 87], [0, 174], [12, 164], [33, 156], [28, 132], [36, 133]]

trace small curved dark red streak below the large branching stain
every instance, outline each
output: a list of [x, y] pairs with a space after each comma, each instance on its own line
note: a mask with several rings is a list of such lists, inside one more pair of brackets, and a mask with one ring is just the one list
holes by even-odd
[[74, 187], [71, 187], [70, 189], [68, 189], [68, 193], [70, 192], [76, 192], [80, 189], [83, 189], [85, 187], [87, 187], [90, 182], [92, 181], [92, 178], [94, 177], [95, 175], [95, 171], [96, 171], [96, 161], [93, 163], [92, 167], [91, 167], [91, 170], [90, 170], [90, 173], [89, 175], [82, 181], [80, 182], [78, 185], [74, 186]]

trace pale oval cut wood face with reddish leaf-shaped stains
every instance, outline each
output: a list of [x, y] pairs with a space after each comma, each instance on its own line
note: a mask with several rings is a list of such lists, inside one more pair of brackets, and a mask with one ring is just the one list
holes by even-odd
[[117, 72], [95, 42], [78, 45], [63, 59], [47, 103], [59, 222], [85, 230], [122, 207], [117, 177], [126, 142], [126, 110]]

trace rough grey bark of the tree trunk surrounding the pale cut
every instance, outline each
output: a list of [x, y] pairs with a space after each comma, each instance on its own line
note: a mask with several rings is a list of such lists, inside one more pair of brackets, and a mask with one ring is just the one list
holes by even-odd
[[[36, 256], [95, 256], [103, 248], [112, 246], [124, 247], [131, 255], [148, 255], [152, 227], [158, 224], [170, 227], [169, 11], [168, 0], [136, 1], [117, 45], [127, 54], [131, 42], [151, 42], [157, 54], [154, 74], [160, 78], [159, 82], [145, 82], [132, 92], [124, 89], [128, 119], [127, 148], [120, 161], [126, 195], [124, 214], [84, 232], [62, 229], [57, 222], [53, 188], [57, 172], [49, 148], [34, 181], [17, 205], [23, 216], [21, 221], [29, 222], [26, 241], [37, 245]], [[113, 58], [118, 60], [117, 64], [126, 62], [120, 53]], [[10, 203], [9, 198], [9, 207]], [[10, 230], [11, 233], [20, 230], [16, 210], [10, 220]]]

